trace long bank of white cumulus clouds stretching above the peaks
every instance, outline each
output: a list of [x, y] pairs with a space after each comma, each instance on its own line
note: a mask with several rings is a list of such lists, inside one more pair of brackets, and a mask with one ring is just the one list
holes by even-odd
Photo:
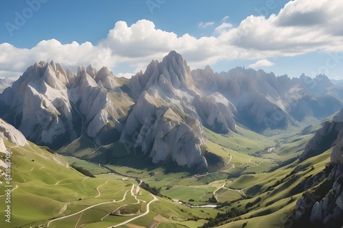
[[[191, 68], [235, 59], [260, 60], [252, 66], [268, 66], [268, 58], [313, 51], [340, 53], [343, 52], [342, 12], [341, 0], [295, 0], [286, 3], [279, 14], [269, 18], [248, 16], [237, 27], [228, 23], [225, 16], [222, 24], [213, 28], [213, 36], [200, 38], [190, 34], [178, 36], [173, 31], [156, 28], [152, 21], [140, 20], [132, 25], [118, 21], [97, 45], [62, 44], [51, 39], [38, 42], [32, 49], [21, 49], [2, 43], [0, 77], [18, 75], [40, 60], [54, 60], [71, 69], [88, 64], [95, 68], [108, 66], [112, 71], [124, 63], [130, 70], [120, 75], [129, 77], [132, 69], [144, 71], [151, 60], [161, 60], [171, 50], [182, 54]], [[214, 23], [201, 24], [211, 25]]]

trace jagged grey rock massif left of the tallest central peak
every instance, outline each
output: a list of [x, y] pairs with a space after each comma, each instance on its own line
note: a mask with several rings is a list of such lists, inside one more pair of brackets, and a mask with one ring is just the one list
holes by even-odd
[[5, 89], [0, 106], [6, 121], [29, 140], [58, 149], [81, 135], [101, 144], [106, 125], [120, 131], [118, 119], [126, 112], [119, 100], [132, 105], [107, 68], [79, 67], [73, 74], [60, 64], [39, 62]]

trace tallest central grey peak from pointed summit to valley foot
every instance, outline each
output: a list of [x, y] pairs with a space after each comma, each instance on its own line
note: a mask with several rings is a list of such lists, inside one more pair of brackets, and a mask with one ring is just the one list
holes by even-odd
[[133, 140], [135, 151], [155, 164], [170, 158], [180, 166], [206, 168], [201, 118], [192, 105], [200, 93], [181, 55], [171, 51], [162, 62], [152, 61], [145, 73], [131, 79], [130, 88], [138, 98], [120, 142]]

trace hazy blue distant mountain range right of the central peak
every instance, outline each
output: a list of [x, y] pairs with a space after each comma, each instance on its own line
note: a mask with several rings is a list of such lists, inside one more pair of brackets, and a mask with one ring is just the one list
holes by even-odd
[[231, 101], [237, 109], [235, 120], [254, 131], [297, 125], [307, 116], [324, 118], [342, 107], [343, 88], [324, 75], [290, 79], [241, 67], [214, 73], [206, 66], [192, 76], [199, 90], [220, 92]]

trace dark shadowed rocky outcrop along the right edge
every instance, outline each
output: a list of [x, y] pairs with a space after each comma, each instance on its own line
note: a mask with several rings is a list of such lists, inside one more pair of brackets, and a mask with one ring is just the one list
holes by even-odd
[[[343, 110], [327, 121], [307, 144], [302, 159], [312, 157], [333, 148], [325, 171], [311, 182], [325, 180], [321, 188], [298, 199], [294, 220], [298, 225], [312, 224], [316, 227], [342, 226], [343, 220]], [[311, 183], [308, 184], [311, 186]]]

